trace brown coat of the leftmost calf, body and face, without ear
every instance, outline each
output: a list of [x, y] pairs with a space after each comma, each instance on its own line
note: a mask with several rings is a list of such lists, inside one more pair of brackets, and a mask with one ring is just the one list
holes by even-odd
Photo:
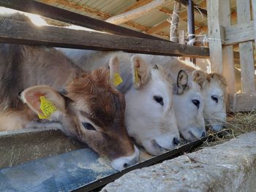
[[[64, 99], [69, 101], [59, 120], [67, 135], [110, 159], [131, 155], [135, 149], [124, 126], [124, 96], [111, 87], [109, 73], [108, 69], [83, 72], [54, 48], [1, 44], [0, 129], [24, 128], [38, 120], [18, 93], [34, 85], [50, 85], [66, 90]], [[83, 128], [79, 114], [87, 114], [99, 130]], [[15, 123], [8, 125], [12, 120]]]

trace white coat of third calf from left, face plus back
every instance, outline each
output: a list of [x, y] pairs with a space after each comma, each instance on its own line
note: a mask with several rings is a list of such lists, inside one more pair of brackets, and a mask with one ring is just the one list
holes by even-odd
[[[170, 74], [170, 78], [176, 82], [178, 76], [178, 67], [173, 69], [174, 64], [178, 62], [177, 58], [159, 56], [159, 55], [141, 55], [152, 65], [159, 64], [164, 66], [165, 71]], [[193, 99], [200, 101], [200, 107], [197, 109], [192, 103]], [[204, 99], [200, 86], [189, 77], [188, 88], [182, 94], [173, 95], [174, 112], [178, 123], [178, 131], [187, 141], [200, 139], [206, 132], [205, 121], [203, 119]]]

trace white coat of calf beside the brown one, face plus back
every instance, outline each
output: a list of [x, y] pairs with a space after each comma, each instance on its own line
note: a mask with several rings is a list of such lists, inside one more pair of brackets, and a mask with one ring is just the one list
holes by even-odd
[[[88, 50], [61, 49], [65, 55], [85, 70], [105, 66], [113, 55], [118, 56], [123, 79], [132, 80], [131, 55], [122, 52], [97, 52]], [[128, 86], [125, 93], [127, 131], [148, 153], [158, 155], [174, 147], [174, 138], [179, 139], [176, 117], [173, 111], [171, 85], [164, 80], [158, 69], [152, 69], [151, 80], [143, 88]], [[124, 75], [124, 76], [123, 76]], [[129, 82], [127, 80], [127, 82]], [[162, 107], [154, 96], [162, 96]]]

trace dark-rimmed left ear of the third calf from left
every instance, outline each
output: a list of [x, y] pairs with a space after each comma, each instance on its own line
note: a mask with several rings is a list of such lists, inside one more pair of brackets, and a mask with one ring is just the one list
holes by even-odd
[[189, 77], [187, 72], [184, 70], [180, 70], [177, 76], [176, 85], [173, 86], [173, 93], [174, 94], [182, 94], [184, 93], [185, 89], [187, 88], [187, 83], [189, 81]]

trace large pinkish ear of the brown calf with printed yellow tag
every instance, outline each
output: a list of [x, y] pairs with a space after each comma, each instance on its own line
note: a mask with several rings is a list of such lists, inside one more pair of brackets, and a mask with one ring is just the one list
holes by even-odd
[[27, 88], [20, 94], [20, 98], [39, 115], [39, 118], [56, 118], [57, 110], [65, 112], [64, 97], [48, 85]]

